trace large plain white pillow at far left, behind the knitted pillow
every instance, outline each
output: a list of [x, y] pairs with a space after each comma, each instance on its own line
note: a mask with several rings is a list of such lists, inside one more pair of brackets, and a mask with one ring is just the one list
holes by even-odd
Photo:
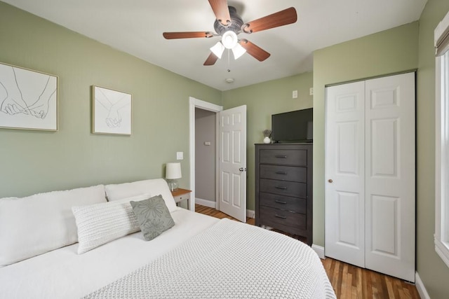
[[106, 202], [105, 186], [0, 199], [0, 267], [78, 241], [72, 207]]

